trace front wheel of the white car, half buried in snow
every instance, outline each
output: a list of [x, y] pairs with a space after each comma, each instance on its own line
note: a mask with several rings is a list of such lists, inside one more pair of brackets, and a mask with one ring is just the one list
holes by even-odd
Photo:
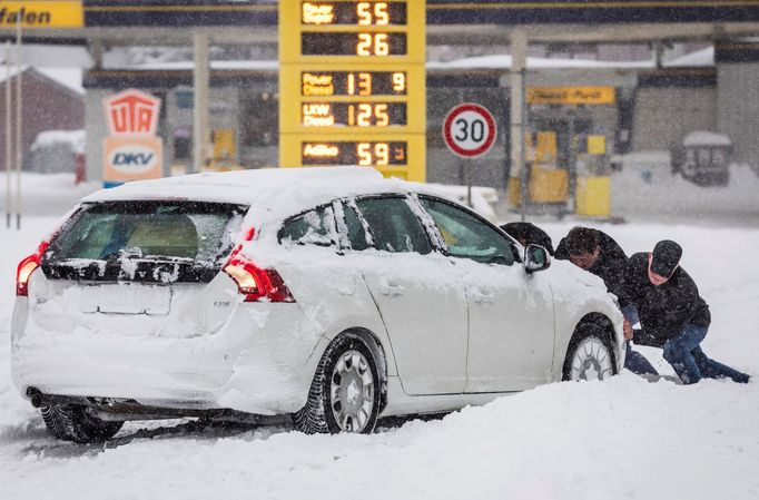
[[604, 380], [617, 374], [617, 360], [607, 332], [594, 324], [579, 326], [564, 359], [563, 380]]

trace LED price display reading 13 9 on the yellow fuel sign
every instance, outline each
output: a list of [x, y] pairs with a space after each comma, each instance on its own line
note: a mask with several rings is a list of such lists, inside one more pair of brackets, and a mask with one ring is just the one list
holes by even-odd
[[303, 71], [302, 96], [405, 96], [405, 71]]

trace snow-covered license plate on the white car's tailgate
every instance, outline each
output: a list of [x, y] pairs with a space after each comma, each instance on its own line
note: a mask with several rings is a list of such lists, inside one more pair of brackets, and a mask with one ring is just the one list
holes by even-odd
[[170, 286], [88, 285], [81, 291], [82, 313], [165, 315], [170, 310]]

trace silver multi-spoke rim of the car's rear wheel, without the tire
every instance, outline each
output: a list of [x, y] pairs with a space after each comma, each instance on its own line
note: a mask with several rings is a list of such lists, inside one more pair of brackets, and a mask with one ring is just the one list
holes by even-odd
[[374, 410], [375, 381], [368, 361], [361, 352], [344, 352], [329, 379], [329, 405], [343, 432], [362, 432]]

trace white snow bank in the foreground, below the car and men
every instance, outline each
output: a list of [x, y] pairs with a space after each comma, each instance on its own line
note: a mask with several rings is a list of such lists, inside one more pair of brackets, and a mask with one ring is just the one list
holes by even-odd
[[[374, 435], [262, 430], [4, 454], [6, 498], [756, 498], [756, 384], [554, 384]], [[24, 432], [13, 430], [16, 440]], [[31, 431], [33, 432], [33, 431]], [[8, 434], [6, 434], [8, 435]], [[27, 434], [28, 435], [28, 434]]]

